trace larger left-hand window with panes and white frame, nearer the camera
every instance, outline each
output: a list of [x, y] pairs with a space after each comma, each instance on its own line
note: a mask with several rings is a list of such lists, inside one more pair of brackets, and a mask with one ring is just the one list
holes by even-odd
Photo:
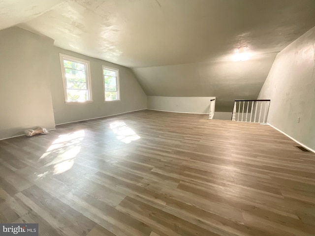
[[66, 102], [92, 101], [90, 61], [60, 54]]

